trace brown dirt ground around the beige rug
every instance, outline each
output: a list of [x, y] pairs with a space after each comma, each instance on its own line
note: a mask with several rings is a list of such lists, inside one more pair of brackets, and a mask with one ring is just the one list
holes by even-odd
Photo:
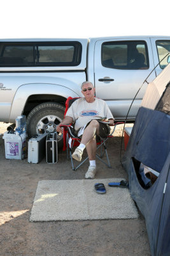
[[[39, 180], [84, 179], [88, 163], [73, 172], [66, 152], [59, 152], [57, 164], [47, 164], [45, 159], [39, 164], [30, 164], [27, 159], [5, 159], [3, 133], [8, 125], [0, 122], [1, 256], [150, 256], [141, 214], [133, 220], [31, 223]], [[128, 179], [120, 164], [121, 136], [122, 125], [108, 145], [112, 168], [97, 161], [97, 179]]]

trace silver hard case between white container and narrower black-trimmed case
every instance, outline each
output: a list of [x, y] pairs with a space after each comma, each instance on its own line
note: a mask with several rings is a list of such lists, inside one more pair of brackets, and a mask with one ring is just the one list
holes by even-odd
[[28, 141], [28, 162], [39, 163], [45, 157], [46, 133], [33, 136]]

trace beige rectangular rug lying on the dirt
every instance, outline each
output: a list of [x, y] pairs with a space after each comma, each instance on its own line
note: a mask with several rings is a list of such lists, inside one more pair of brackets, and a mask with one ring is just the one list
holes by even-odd
[[[30, 221], [108, 220], [138, 218], [129, 189], [111, 188], [122, 179], [41, 180], [38, 182]], [[104, 183], [106, 194], [94, 184]]]

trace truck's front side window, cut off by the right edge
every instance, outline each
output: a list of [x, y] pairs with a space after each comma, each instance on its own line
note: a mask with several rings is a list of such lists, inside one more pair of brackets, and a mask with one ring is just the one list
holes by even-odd
[[[157, 40], [156, 41], [156, 45], [157, 45], [157, 52], [158, 52], [158, 56], [159, 56], [159, 61], [160, 61], [160, 68], [164, 69], [167, 64], [167, 58], [169, 55], [167, 55], [166, 58], [164, 58], [166, 56], [166, 54], [168, 54], [168, 52], [170, 52], [170, 41], [169, 40]], [[164, 60], [162, 60], [164, 58]]]

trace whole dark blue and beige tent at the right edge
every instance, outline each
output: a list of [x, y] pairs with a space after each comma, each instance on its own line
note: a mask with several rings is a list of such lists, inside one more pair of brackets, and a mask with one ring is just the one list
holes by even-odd
[[[145, 217], [152, 256], [170, 255], [170, 64], [148, 84], [122, 157], [132, 198]], [[140, 166], [158, 173], [146, 188]]]

